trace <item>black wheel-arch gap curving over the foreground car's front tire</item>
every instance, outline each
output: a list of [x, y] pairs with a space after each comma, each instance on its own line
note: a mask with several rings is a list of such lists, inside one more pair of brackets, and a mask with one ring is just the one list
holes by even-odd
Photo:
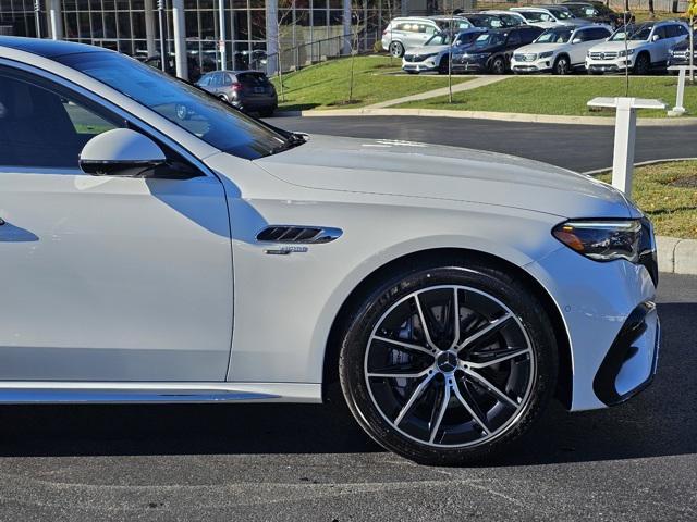
[[378, 286], [379, 282], [383, 279], [388, 274], [406, 268], [411, 264], [427, 261], [435, 258], [461, 258], [463, 262], [470, 261], [485, 261], [489, 265], [497, 266], [506, 272], [513, 273], [518, 276], [526, 286], [536, 295], [536, 297], [542, 303], [545, 311], [552, 323], [554, 330], [554, 337], [557, 339], [557, 347], [559, 351], [559, 375], [557, 383], [557, 397], [564, 405], [565, 408], [571, 408], [572, 399], [572, 383], [573, 383], [573, 368], [572, 368], [572, 352], [571, 343], [564, 320], [562, 319], [561, 311], [557, 306], [554, 299], [548, 293], [548, 290], [525, 269], [508, 261], [499, 256], [494, 256], [481, 250], [474, 250], [468, 248], [432, 248], [426, 250], [419, 250], [411, 252], [399, 258], [392, 259], [381, 266], [375, 269], [367, 276], [365, 276], [344, 299], [343, 303], [337, 312], [329, 336], [327, 338], [327, 345], [325, 347], [323, 362], [322, 362], [322, 398], [325, 401], [343, 401], [343, 396], [339, 389], [339, 356], [341, 351], [341, 335], [346, 328], [348, 322], [356, 313], [358, 307], [371, 291]]

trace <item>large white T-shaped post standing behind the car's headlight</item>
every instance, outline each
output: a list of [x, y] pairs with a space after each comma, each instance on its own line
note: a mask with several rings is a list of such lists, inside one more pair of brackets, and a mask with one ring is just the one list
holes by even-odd
[[614, 123], [614, 157], [612, 159], [612, 186], [632, 196], [634, 174], [634, 142], [636, 140], [636, 110], [665, 110], [661, 100], [645, 98], [594, 98], [588, 107], [608, 107], [616, 110]]

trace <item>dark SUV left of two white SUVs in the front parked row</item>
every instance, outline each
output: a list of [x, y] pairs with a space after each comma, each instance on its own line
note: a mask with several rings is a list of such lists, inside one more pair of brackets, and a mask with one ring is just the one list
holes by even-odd
[[519, 25], [505, 29], [491, 29], [479, 36], [462, 53], [453, 53], [453, 71], [505, 74], [511, 57], [518, 47], [531, 44], [545, 29]]

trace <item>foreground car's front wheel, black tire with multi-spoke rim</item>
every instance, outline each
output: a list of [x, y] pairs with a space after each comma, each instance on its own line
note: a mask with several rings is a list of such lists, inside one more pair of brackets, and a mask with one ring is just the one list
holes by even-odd
[[[458, 337], [447, 319], [455, 299]], [[400, 371], [412, 375], [391, 376]], [[351, 315], [339, 358], [346, 403], [363, 428], [433, 465], [480, 462], [510, 447], [543, 411], [557, 373], [553, 330], [530, 288], [460, 259], [398, 271]]]

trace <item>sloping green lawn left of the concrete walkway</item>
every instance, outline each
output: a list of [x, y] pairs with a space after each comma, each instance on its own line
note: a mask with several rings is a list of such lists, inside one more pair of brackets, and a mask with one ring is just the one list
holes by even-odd
[[[352, 103], [348, 103], [350, 58], [330, 60], [284, 74], [285, 102], [281, 101], [278, 76], [272, 82], [279, 94], [281, 110], [351, 109], [448, 87], [447, 76], [389, 74], [400, 71], [401, 66], [401, 60], [389, 57], [356, 57]], [[472, 78], [453, 76], [453, 84], [468, 79]]]

